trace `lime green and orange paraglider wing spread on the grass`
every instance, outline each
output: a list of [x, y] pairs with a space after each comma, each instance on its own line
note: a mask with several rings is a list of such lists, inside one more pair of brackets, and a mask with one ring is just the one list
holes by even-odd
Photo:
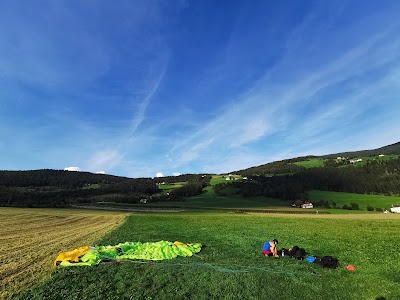
[[63, 252], [54, 261], [55, 266], [92, 266], [102, 260], [163, 260], [177, 256], [192, 256], [200, 252], [200, 243], [184, 244], [181, 242], [126, 242], [115, 246], [84, 246]]

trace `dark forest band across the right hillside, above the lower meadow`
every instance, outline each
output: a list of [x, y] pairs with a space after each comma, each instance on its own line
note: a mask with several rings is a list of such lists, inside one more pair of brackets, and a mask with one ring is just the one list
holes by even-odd
[[229, 183], [244, 196], [268, 196], [283, 200], [306, 199], [308, 190], [350, 193], [400, 194], [400, 158], [369, 161], [364, 166], [319, 167], [292, 175], [249, 176], [248, 181]]

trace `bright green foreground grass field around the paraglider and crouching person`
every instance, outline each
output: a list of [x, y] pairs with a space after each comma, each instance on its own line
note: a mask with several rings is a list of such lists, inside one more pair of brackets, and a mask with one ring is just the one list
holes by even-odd
[[[97, 244], [169, 240], [206, 247], [169, 261], [57, 268], [15, 298], [400, 299], [399, 225], [394, 214], [135, 213]], [[340, 268], [264, 257], [261, 247], [271, 238], [279, 247], [299, 245], [312, 255], [337, 257]], [[67, 244], [60, 249], [80, 246]], [[348, 271], [349, 264], [356, 271]]]

